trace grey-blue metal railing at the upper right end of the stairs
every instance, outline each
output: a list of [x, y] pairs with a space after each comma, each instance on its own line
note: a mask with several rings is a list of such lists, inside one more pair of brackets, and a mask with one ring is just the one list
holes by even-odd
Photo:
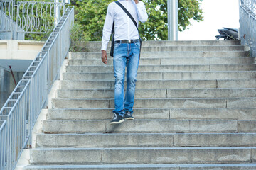
[[250, 47], [250, 55], [256, 57], [256, 0], [240, 1], [240, 40]]

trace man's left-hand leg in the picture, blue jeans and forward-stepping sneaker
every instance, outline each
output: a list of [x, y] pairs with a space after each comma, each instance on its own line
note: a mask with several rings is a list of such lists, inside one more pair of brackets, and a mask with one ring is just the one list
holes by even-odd
[[[124, 74], [127, 62], [127, 44], [114, 45], [114, 118], [111, 124], [121, 123], [124, 116]], [[119, 115], [119, 116], [118, 116]], [[120, 117], [121, 116], [121, 117]]]

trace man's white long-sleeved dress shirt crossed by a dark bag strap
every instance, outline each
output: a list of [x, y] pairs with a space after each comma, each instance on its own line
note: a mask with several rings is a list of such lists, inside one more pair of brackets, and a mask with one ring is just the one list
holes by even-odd
[[[142, 1], [135, 4], [134, 0], [119, 0], [119, 2], [131, 13], [134, 20], [139, 23], [147, 21], [145, 5]], [[112, 25], [114, 21], [114, 40], [135, 40], [139, 39], [139, 33], [131, 18], [118, 6], [112, 2], [107, 7], [107, 16], [103, 27], [102, 50], [107, 50], [107, 43], [110, 41]]]

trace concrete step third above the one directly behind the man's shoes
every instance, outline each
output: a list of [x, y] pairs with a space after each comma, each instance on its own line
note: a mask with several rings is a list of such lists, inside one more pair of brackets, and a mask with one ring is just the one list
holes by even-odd
[[[60, 81], [61, 89], [114, 89], [112, 81]], [[126, 86], [126, 83], [124, 83]], [[137, 89], [255, 88], [256, 79], [226, 80], [138, 80]]]

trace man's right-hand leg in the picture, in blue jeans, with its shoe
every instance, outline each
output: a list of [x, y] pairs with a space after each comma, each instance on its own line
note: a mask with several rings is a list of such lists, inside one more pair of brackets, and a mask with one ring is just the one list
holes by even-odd
[[140, 43], [132, 43], [129, 44], [129, 46], [129, 56], [127, 59], [127, 91], [124, 98], [124, 118], [133, 120], [132, 108], [134, 106], [136, 77], [139, 67]]

